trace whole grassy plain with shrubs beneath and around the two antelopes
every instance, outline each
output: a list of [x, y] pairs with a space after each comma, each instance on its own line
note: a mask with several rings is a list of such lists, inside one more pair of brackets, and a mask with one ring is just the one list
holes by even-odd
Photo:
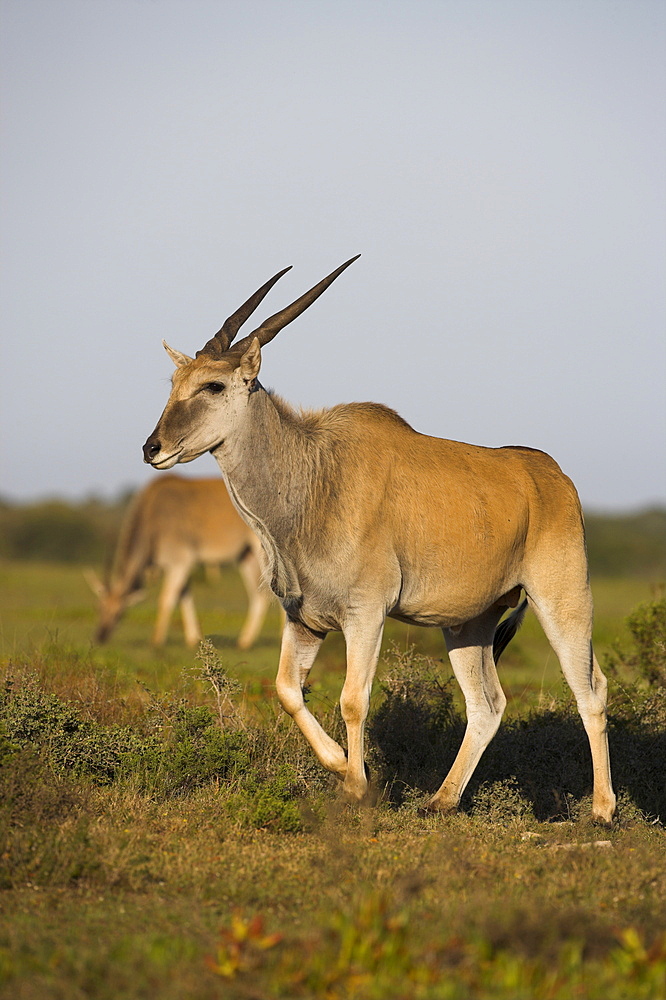
[[[63, 510], [61, 541], [85, 536]], [[0, 515], [18, 538], [19, 514]], [[619, 522], [590, 532], [620, 806], [606, 829], [532, 616], [500, 664], [504, 722], [447, 817], [419, 811], [464, 728], [442, 636], [387, 624], [375, 801], [352, 807], [275, 698], [277, 607], [241, 653], [236, 572], [199, 573], [198, 649], [178, 622], [150, 648], [156, 585], [97, 647], [82, 568], [103, 546], [89, 532], [54, 552], [35, 515], [0, 562], [0, 996], [665, 997], [666, 515], [650, 516], [633, 559]], [[308, 694], [342, 739], [343, 665], [329, 636]]]

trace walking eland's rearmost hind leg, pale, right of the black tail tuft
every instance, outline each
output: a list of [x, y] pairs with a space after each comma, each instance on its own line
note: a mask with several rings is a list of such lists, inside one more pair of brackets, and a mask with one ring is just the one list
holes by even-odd
[[592, 818], [611, 824], [616, 799], [613, 792], [606, 723], [607, 681], [592, 649], [592, 595], [587, 582], [553, 597], [537, 588], [528, 591], [562, 673], [576, 699], [592, 755]]

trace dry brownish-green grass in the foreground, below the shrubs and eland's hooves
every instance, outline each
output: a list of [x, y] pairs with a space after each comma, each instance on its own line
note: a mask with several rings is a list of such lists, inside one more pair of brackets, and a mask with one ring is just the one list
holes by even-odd
[[[48, 878], [42, 861], [3, 893], [12, 915], [0, 936], [3, 996], [323, 996], [331, 969], [339, 975], [327, 995], [374, 996], [362, 987], [377, 952], [392, 996], [448, 996], [445, 983], [470, 986], [470, 963], [491, 983], [488, 956], [503, 956], [494, 988], [479, 978], [478, 988], [450, 995], [519, 996], [507, 957], [514, 973], [532, 970], [534, 984], [575, 952], [580, 978], [581, 963], [615, 969], [611, 956], [628, 930], [658, 947], [666, 920], [663, 833], [640, 823], [595, 846], [599, 832], [585, 823], [421, 820], [335, 799], [306, 833], [247, 832], [211, 788], [167, 803], [96, 790], [67, 808], [42, 828], [43, 842], [53, 834]], [[227, 979], [206, 960], [220, 952], [228, 960], [234, 914], [260, 917], [266, 934], [283, 939], [270, 954], [254, 955], [245, 942], [248, 968]], [[358, 988], [350, 966], [340, 968], [350, 933]], [[424, 970], [439, 992], [419, 992]], [[627, 977], [615, 979], [626, 989]], [[629, 995], [660, 994], [605, 994]]]

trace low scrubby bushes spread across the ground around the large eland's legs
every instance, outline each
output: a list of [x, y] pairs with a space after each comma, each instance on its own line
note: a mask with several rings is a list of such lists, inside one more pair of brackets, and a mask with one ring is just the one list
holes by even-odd
[[[626, 803], [666, 817], [666, 600], [629, 618], [634, 637], [608, 658], [612, 682], [632, 676], [630, 688], [611, 687], [609, 715], [614, 770]], [[168, 799], [214, 782], [224, 785], [230, 809], [254, 828], [302, 829], [297, 803], [330, 784], [277, 709], [269, 726], [247, 722], [234, 704], [239, 685], [212, 643], [200, 647], [195, 676], [212, 704], [146, 692], [132, 725], [84, 718], [81, 709], [48, 692], [29, 668], [9, 673], [0, 697], [2, 736], [9, 747], [37, 753], [56, 774], [96, 785], [130, 783], [142, 794]], [[454, 706], [451, 679], [441, 665], [413, 648], [387, 656], [382, 698], [368, 721], [369, 763], [383, 800], [394, 807], [433, 792], [453, 761], [465, 728]], [[338, 731], [339, 713], [329, 730]], [[495, 821], [532, 815], [571, 819], [591, 788], [587, 743], [575, 703], [562, 694], [547, 708], [507, 720], [486, 751], [463, 808]]]

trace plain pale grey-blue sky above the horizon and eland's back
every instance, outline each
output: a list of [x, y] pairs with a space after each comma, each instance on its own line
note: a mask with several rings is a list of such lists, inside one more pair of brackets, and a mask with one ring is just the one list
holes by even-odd
[[0, 32], [0, 497], [159, 475], [162, 338], [360, 253], [266, 387], [666, 503], [661, 0], [0, 0]]

